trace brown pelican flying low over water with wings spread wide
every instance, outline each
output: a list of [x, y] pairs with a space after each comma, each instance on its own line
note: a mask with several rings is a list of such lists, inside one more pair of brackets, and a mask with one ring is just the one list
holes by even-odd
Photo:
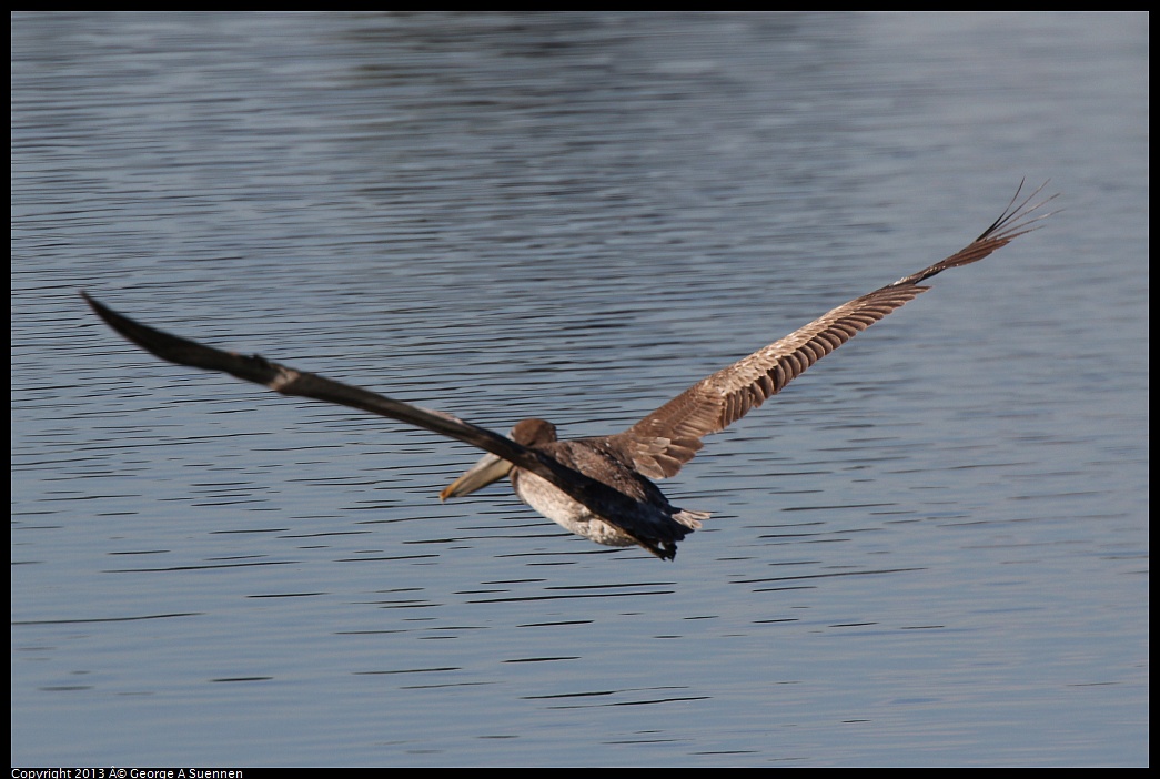
[[639, 545], [672, 560], [676, 543], [709, 514], [672, 505], [651, 479], [672, 476], [693, 459], [701, 439], [745, 416], [807, 367], [929, 287], [921, 282], [948, 268], [978, 262], [1032, 230], [1051, 214], [1032, 217], [1052, 197], [1031, 204], [1035, 190], [1002, 214], [964, 249], [942, 262], [855, 298], [726, 369], [696, 383], [631, 428], [612, 436], [560, 441], [544, 420], [524, 420], [507, 437], [384, 395], [297, 371], [259, 355], [220, 351], [168, 335], [123, 316], [81, 292], [117, 333], [161, 359], [223, 371], [299, 395], [358, 408], [457, 438], [487, 454], [451, 483], [441, 498], [472, 493], [505, 475], [516, 495], [567, 530], [609, 546]]

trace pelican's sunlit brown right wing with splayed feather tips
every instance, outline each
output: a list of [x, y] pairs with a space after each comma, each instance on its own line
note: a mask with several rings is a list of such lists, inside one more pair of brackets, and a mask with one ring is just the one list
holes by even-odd
[[930, 289], [919, 286], [921, 282], [948, 268], [978, 262], [1035, 230], [1035, 223], [1051, 214], [1032, 217], [1032, 213], [1056, 196], [1032, 205], [1031, 201], [1043, 190], [1039, 187], [1016, 205], [1022, 189], [1020, 183], [1002, 214], [966, 248], [850, 300], [781, 341], [702, 379], [624, 432], [610, 436], [611, 443], [646, 476], [672, 476], [693, 459], [704, 436], [724, 430], [776, 395], [815, 362]]

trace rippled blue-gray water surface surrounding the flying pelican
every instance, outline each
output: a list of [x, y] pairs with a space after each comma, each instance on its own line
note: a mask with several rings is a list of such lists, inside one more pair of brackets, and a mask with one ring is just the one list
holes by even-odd
[[[1146, 15], [12, 19], [12, 760], [1148, 750]], [[706, 441], [672, 563], [77, 296], [611, 432], [1065, 209]]]

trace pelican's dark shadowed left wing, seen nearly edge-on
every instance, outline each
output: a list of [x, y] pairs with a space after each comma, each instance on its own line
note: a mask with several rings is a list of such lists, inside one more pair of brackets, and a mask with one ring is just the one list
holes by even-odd
[[[625, 527], [622, 524], [621, 517], [652, 518], [652, 514], [657, 511], [654, 507], [637, 502], [628, 495], [586, 476], [579, 471], [568, 468], [543, 452], [528, 449], [510, 438], [471, 424], [470, 422], [464, 422], [450, 414], [404, 403], [403, 401], [393, 400], [369, 390], [327, 379], [317, 373], [297, 371], [292, 367], [273, 363], [259, 355], [239, 355], [232, 351], [222, 351], [197, 343], [196, 341], [169, 335], [168, 333], [142, 325], [123, 314], [118, 314], [108, 306], [94, 300], [86, 292], [81, 292], [81, 296], [96, 315], [104, 320], [109, 327], [161, 359], [206, 371], [229, 373], [245, 381], [264, 385], [283, 395], [298, 395], [322, 400], [328, 403], [349, 406], [350, 408], [399, 420], [407, 424], [456, 438], [472, 446], [478, 446], [548, 480], [629, 536], [636, 537], [631, 526]], [[686, 532], [691, 532], [682, 530], [680, 525], [669, 522], [667, 517], [658, 516], [655, 519], [657, 522], [652, 524], [660, 529], [661, 534], [664, 536], [665, 532], [668, 532], [668, 536], [670, 536], [661, 540], [680, 540], [684, 538]], [[652, 548], [647, 541], [641, 540], [640, 544], [645, 548]], [[659, 552], [654, 553], [660, 554]], [[672, 555], [669, 554], [668, 556]]]

